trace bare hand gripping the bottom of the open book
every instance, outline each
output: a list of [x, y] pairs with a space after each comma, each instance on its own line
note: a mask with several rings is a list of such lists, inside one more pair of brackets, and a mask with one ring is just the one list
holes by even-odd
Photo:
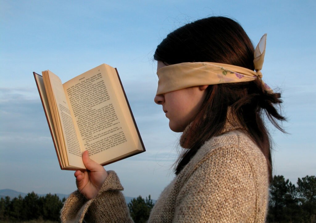
[[80, 193], [88, 200], [94, 198], [107, 178], [106, 170], [89, 158], [88, 151], [82, 154], [84, 166], [88, 169], [75, 172], [76, 185]]

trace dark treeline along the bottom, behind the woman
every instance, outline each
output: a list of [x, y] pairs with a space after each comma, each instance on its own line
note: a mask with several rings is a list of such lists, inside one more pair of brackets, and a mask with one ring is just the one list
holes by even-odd
[[[28, 220], [59, 222], [63, 202], [55, 194], [39, 197], [34, 192], [24, 198], [1, 198], [0, 222], [19, 222]], [[149, 197], [134, 198], [128, 203], [131, 217], [135, 222], [147, 222], [154, 206]], [[298, 178], [296, 185], [283, 176], [274, 176], [270, 184], [267, 222], [316, 222], [316, 178]]]

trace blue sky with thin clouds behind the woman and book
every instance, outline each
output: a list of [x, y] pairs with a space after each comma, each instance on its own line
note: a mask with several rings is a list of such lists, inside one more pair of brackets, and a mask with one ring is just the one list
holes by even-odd
[[156, 46], [174, 29], [227, 16], [256, 45], [267, 33], [263, 79], [282, 91], [283, 134], [274, 140], [273, 175], [292, 183], [316, 174], [315, 1], [18, 1], [0, 0], [0, 189], [23, 193], [76, 190], [61, 170], [33, 71], [62, 82], [102, 63], [117, 67], [146, 152], [106, 166], [124, 195], [157, 199], [173, 179], [179, 133], [172, 132], [157, 87]]

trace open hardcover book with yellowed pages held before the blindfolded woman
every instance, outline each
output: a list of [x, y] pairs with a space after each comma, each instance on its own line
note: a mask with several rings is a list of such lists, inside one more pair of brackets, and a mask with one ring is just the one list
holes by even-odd
[[62, 84], [33, 72], [61, 169], [106, 165], [145, 151], [116, 68], [102, 64]]

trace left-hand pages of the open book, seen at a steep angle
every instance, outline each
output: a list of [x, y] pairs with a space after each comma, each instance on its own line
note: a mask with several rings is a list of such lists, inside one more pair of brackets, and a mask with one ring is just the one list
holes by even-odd
[[[61, 147], [66, 150], [68, 163], [70, 166], [84, 168], [82, 162], [82, 152], [80, 148], [79, 139], [77, 137], [76, 129], [70, 114], [69, 106], [66, 103], [63, 85], [61, 80], [51, 71], [47, 71], [51, 91], [54, 98], [54, 104], [52, 113], [55, 113], [56, 118], [54, 124], [56, 126], [56, 132], [62, 132], [59, 134]], [[43, 73], [44, 83], [46, 81], [46, 75]], [[48, 92], [47, 92], [48, 93]], [[48, 97], [50, 100], [50, 97]]]

